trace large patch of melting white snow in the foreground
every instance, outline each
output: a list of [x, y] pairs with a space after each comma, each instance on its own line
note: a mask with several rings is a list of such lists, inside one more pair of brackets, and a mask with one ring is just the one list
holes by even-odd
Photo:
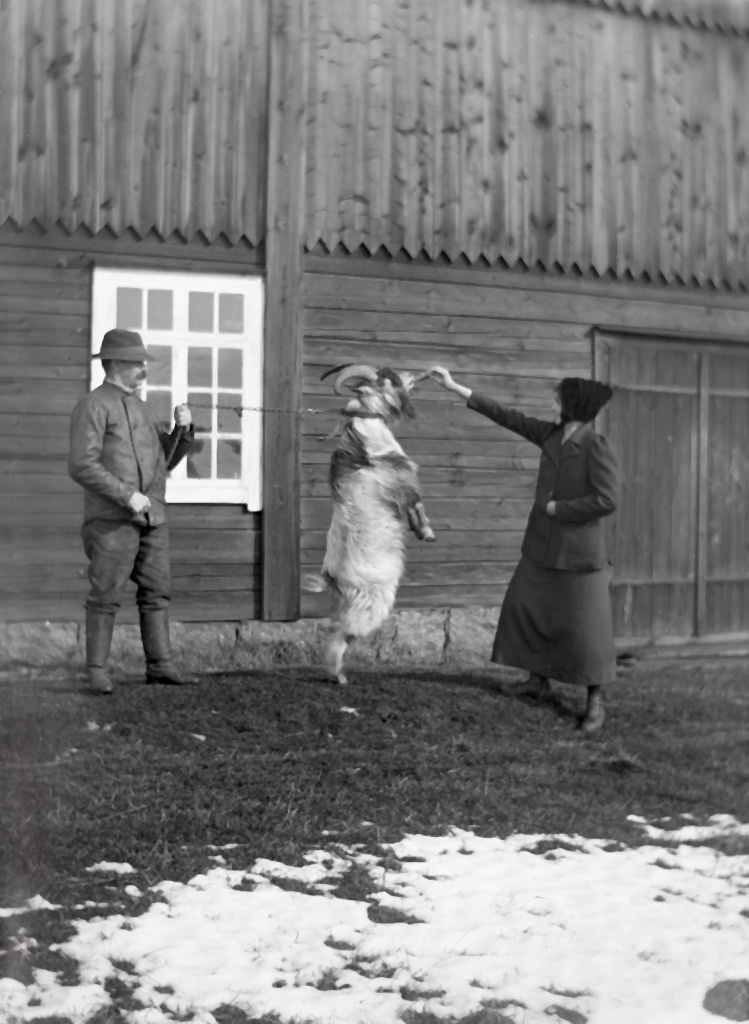
[[[709, 822], [711, 837], [737, 827]], [[715, 1024], [707, 991], [749, 975], [749, 856], [676, 842], [455, 829], [406, 837], [387, 867], [340, 846], [301, 866], [213, 867], [160, 883], [137, 916], [75, 922], [57, 948], [80, 984], [0, 982], [0, 1020], [84, 1024], [122, 977], [144, 1008], [128, 1024], [214, 1024], [227, 1004], [289, 1024], [402, 1024], [407, 1010], [461, 1017], [493, 1000], [516, 1024]], [[351, 866], [372, 879], [366, 899], [334, 895]]]

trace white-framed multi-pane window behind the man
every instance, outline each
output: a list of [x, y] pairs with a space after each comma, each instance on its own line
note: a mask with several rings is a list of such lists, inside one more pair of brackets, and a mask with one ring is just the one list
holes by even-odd
[[[137, 331], [154, 355], [143, 397], [171, 425], [193, 413], [196, 443], [169, 474], [180, 503], [261, 508], [263, 283], [239, 274], [93, 271], [91, 352], [114, 327]], [[93, 359], [91, 387], [103, 379]]]

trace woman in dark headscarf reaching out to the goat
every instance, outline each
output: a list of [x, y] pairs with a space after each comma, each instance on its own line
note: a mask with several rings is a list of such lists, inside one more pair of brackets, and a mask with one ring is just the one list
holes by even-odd
[[469, 409], [541, 449], [536, 498], [523, 554], [507, 588], [492, 660], [527, 669], [514, 693], [547, 697], [549, 678], [587, 688], [580, 728], [604, 724], [602, 687], [616, 677], [602, 518], [617, 507], [619, 473], [591, 424], [612, 396], [599, 381], [566, 377], [554, 391], [554, 421], [505, 409], [458, 384], [444, 367], [431, 376]]

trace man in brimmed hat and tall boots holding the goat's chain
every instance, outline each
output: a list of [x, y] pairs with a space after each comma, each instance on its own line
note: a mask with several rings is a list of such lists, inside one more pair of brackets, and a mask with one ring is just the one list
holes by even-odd
[[71, 420], [69, 472], [85, 489], [81, 531], [91, 588], [86, 599], [86, 671], [97, 693], [112, 692], [107, 663], [115, 614], [132, 580], [147, 682], [179, 685], [169, 643], [169, 529], [167, 470], [193, 443], [192, 414], [174, 410], [171, 434], [154, 422], [138, 388], [149, 352], [134, 331], [108, 331], [101, 350], [106, 379], [76, 406]]

